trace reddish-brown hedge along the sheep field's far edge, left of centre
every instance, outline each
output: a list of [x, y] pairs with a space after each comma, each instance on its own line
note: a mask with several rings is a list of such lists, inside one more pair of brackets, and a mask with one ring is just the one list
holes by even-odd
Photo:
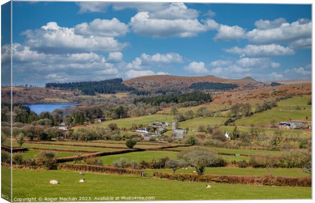
[[141, 170], [130, 169], [130, 168], [118, 168], [110, 166], [99, 166], [99, 165], [85, 165], [85, 164], [58, 164], [58, 170], [66, 171], [79, 171], [79, 172], [96, 172], [96, 173], [107, 173], [107, 174], [125, 174], [125, 175], [139, 175], [142, 176]]

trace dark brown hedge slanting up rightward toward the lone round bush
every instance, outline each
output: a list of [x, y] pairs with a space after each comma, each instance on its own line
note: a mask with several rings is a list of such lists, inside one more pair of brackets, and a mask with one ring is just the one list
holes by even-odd
[[80, 159], [85, 159], [85, 158], [93, 158], [97, 156], [108, 156], [108, 155], [124, 154], [124, 153], [137, 152], [137, 151], [142, 151], [142, 150], [141, 149], [126, 149], [126, 150], [112, 151], [112, 152], [94, 152], [94, 153], [89, 153], [89, 154], [82, 154], [80, 156], [60, 157], [60, 158], [56, 158], [56, 161], [57, 163], [63, 163], [63, 162], [80, 160]]

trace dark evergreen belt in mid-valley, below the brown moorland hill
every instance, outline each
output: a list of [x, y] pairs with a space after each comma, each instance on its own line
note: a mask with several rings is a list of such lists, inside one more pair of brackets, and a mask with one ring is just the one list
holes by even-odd
[[197, 101], [198, 103], [206, 103], [212, 101], [210, 93], [194, 91], [188, 93], [170, 93], [159, 96], [144, 96], [135, 98], [134, 104], [145, 103], [152, 106], [159, 106], [162, 102], [165, 103], [184, 103], [185, 101]]

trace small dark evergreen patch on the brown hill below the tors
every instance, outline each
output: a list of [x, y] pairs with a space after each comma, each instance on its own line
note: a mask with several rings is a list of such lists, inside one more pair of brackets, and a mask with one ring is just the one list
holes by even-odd
[[221, 90], [227, 91], [231, 89], [235, 89], [238, 86], [236, 84], [230, 83], [213, 83], [213, 82], [200, 82], [194, 83], [189, 88], [195, 90]]

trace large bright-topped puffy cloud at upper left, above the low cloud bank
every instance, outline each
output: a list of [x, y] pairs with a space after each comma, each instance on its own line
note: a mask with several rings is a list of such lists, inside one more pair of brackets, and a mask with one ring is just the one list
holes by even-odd
[[60, 27], [56, 22], [49, 22], [40, 29], [26, 30], [22, 35], [28, 46], [45, 53], [112, 52], [128, 46], [113, 37], [77, 35], [75, 28]]

